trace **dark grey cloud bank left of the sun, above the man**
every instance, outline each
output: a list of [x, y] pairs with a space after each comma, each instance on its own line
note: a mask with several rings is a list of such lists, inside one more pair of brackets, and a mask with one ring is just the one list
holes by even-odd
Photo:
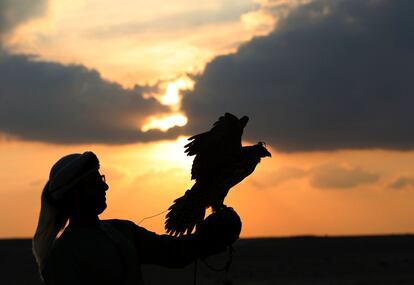
[[124, 89], [82, 65], [37, 61], [0, 54], [0, 132], [7, 136], [59, 144], [121, 144], [173, 137], [141, 132], [149, 115], [168, 112], [142, 93]]

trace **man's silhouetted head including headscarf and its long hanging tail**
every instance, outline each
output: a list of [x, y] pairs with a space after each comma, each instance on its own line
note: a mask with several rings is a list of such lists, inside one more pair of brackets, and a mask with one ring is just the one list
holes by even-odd
[[108, 185], [99, 173], [99, 160], [93, 152], [69, 154], [53, 165], [42, 191], [33, 236], [33, 254], [40, 270], [68, 219], [97, 217], [105, 210], [106, 190]]

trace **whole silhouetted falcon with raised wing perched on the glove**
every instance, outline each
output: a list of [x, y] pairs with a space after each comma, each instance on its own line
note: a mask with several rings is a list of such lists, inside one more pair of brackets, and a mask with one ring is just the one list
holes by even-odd
[[238, 119], [226, 113], [210, 131], [188, 139], [185, 152], [195, 155], [191, 179], [196, 182], [168, 209], [168, 234], [190, 234], [203, 221], [206, 208], [212, 207], [213, 212], [225, 208], [224, 198], [230, 188], [253, 173], [261, 158], [271, 156], [263, 142], [242, 146], [241, 137], [248, 121], [247, 116]]

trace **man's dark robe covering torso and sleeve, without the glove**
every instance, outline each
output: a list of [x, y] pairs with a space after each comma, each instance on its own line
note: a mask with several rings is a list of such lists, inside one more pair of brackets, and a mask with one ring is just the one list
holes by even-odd
[[141, 264], [184, 267], [205, 248], [194, 235], [158, 235], [131, 221], [102, 220], [96, 227], [66, 227], [42, 276], [46, 285], [141, 285]]

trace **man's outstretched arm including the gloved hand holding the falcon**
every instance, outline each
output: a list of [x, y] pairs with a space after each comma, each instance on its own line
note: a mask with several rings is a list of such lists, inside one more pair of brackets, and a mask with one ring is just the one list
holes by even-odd
[[208, 216], [195, 234], [181, 237], [158, 235], [131, 221], [122, 221], [133, 239], [141, 263], [184, 267], [197, 258], [226, 250], [239, 237], [241, 220], [228, 208]]

